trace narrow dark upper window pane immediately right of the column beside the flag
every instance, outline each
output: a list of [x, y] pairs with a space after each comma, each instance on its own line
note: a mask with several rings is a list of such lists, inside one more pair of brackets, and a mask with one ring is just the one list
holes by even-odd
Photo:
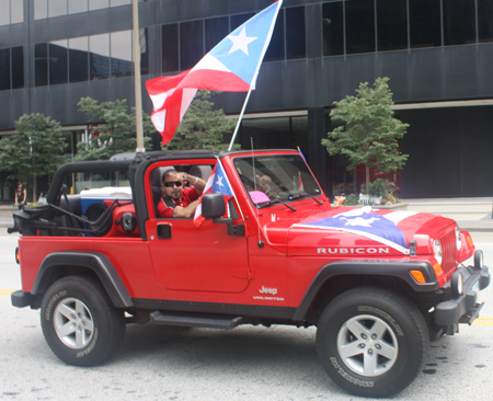
[[322, 5], [323, 55], [344, 54], [343, 2], [334, 1]]

